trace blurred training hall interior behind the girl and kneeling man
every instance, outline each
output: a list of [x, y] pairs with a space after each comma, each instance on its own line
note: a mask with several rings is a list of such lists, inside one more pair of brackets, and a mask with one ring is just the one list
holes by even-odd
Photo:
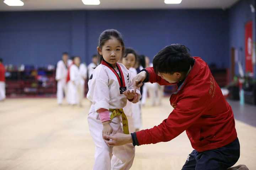
[[[240, 142], [234, 166], [255, 170], [255, 10], [255, 0], [1, 0], [0, 170], [90, 170], [101, 163], [86, 95], [107, 29], [136, 53], [135, 75], [171, 44], [202, 58], [233, 110]], [[144, 83], [134, 131], [169, 117], [176, 91]], [[135, 146], [130, 169], [182, 169], [192, 151], [183, 131], [168, 142]]]

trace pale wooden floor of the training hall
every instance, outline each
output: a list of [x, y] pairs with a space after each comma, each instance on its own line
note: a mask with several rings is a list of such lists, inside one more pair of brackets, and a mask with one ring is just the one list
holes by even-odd
[[[84, 107], [58, 106], [54, 98], [7, 99], [0, 102], [0, 170], [90, 170], [94, 143]], [[143, 128], [158, 125], [170, 113], [168, 98], [161, 107], [143, 108]], [[256, 115], [255, 115], [256, 116]], [[238, 164], [256, 169], [256, 128], [236, 121], [241, 144]], [[133, 170], [179, 170], [192, 151], [183, 132], [170, 142], [136, 147]]]

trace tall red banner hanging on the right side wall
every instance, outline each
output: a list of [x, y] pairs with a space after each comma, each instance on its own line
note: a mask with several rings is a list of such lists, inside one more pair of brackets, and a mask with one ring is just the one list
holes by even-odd
[[245, 73], [253, 73], [252, 41], [252, 21], [249, 21], [245, 24]]

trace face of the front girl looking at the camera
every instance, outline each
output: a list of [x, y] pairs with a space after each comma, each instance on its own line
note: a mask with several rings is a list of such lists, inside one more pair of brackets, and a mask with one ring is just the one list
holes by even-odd
[[97, 47], [97, 50], [103, 56], [104, 60], [112, 64], [113, 67], [116, 67], [117, 61], [122, 56], [122, 44], [116, 38], [107, 40], [102, 46], [102, 49]]

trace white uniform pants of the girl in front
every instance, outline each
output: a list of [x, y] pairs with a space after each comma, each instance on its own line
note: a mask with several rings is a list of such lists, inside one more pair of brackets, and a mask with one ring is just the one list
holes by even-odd
[[[112, 134], [116, 134], [117, 132], [123, 133], [121, 120], [122, 116], [118, 116], [111, 121], [110, 125], [113, 128]], [[135, 155], [134, 146], [129, 143], [123, 146], [108, 147], [102, 139], [103, 126], [96, 112], [89, 113], [88, 125], [96, 146], [94, 170], [130, 169]]]

